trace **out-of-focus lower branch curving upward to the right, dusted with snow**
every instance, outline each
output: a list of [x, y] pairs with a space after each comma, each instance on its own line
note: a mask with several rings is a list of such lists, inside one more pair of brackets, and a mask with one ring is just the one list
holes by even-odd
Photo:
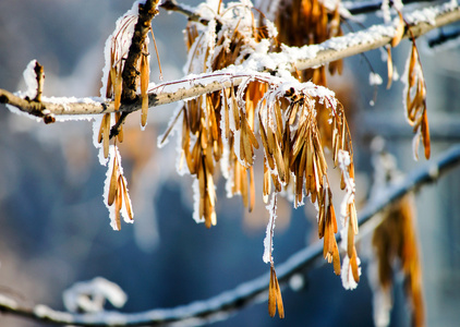
[[[391, 203], [400, 199], [404, 194], [413, 192], [423, 185], [435, 182], [450, 169], [460, 165], [460, 146], [455, 146], [436, 160], [408, 174], [399, 184], [387, 187], [373, 203], [368, 203], [359, 214], [359, 225], [363, 227], [372, 218], [384, 210]], [[340, 234], [337, 240], [340, 241]], [[314, 244], [299, 251], [278, 265], [278, 279], [287, 282], [293, 275], [324, 264], [323, 244]], [[159, 326], [181, 322], [183, 325], [202, 325], [223, 319], [244, 306], [262, 302], [266, 299], [269, 275], [241, 283], [233, 290], [226, 291], [214, 298], [192, 302], [172, 308], [157, 308], [140, 313], [123, 314], [118, 312], [102, 312], [92, 314], [73, 314], [55, 311], [46, 305], [27, 307], [17, 301], [0, 294], [0, 311], [13, 315], [27, 317], [37, 322], [58, 325], [75, 326]]]

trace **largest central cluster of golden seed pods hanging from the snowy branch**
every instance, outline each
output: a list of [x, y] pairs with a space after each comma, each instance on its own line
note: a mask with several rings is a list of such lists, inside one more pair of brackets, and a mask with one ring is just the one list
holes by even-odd
[[[227, 15], [237, 14], [242, 17], [237, 20], [237, 25], [226, 24], [235, 21], [226, 20]], [[189, 72], [205, 74], [241, 64], [256, 51], [262, 40], [276, 51], [276, 40], [268, 28], [257, 26], [251, 8], [243, 5], [238, 11], [222, 11], [206, 27], [189, 23]], [[241, 78], [242, 82], [187, 100], [174, 119], [182, 124], [179, 169], [185, 169], [195, 178], [195, 220], [208, 228], [217, 222], [215, 179], [218, 165], [227, 179], [228, 196], [241, 194], [243, 204], [251, 210], [256, 198], [254, 167], [258, 162], [261, 169], [257, 171], [264, 171], [262, 197], [265, 202], [270, 194], [285, 193], [293, 199], [294, 207], [303, 205], [305, 197], [317, 205], [318, 235], [325, 240], [324, 257], [334, 263], [334, 270], [339, 275], [340, 254], [335, 238], [338, 223], [325, 147], [331, 149], [331, 162], [342, 173], [342, 189], [347, 183], [354, 187], [352, 144], [342, 106], [332, 92], [311, 82], [300, 83], [294, 78], [286, 82], [270, 74], [237, 72], [230, 77], [225, 75], [222, 83], [229, 78]], [[330, 125], [330, 135], [324, 135], [319, 128], [318, 117], [324, 116]], [[262, 161], [255, 160], [259, 148], [264, 152]], [[339, 165], [341, 153], [349, 154], [347, 165]], [[348, 190], [352, 195], [353, 187]], [[346, 215], [353, 218], [347, 220], [351, 226], [349, 257], [352, 277], [358, 282], [359, 261], [354, 249], [358, 222], [354, 196], [348, 198]], [[273, 233], [267, 235], [273, 238]], [[274, 262], [269, 262], [274, 278], [269, 304], [271, 315], [275, 313], [274, 303], [282, 307], [282, 302], [276, 295], [279, 288], [276, 288]], [[283, 315], [279, 307], [278, 311], [280, 316]]]

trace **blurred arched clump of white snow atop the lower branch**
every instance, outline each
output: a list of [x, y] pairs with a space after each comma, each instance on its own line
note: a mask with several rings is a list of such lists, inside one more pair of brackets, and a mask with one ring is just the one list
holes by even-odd
[[122, 307], [128, 296], [123, 290], [102, 277], [77, 282], [63, 292], [63, 301], [70, 312], [101, 312], [106, 301], [116, 307]]

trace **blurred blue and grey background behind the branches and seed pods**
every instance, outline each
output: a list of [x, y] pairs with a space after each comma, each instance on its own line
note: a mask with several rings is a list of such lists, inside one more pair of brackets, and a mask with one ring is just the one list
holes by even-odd
[[[186, 2], [194, 5], [199, 1]], [[105, 40], [131, 5], [126, 0], [1, 1], [0, 88], [24, 89], [22, 73], [37, 59], [45, 68], [46, 96], [98, 96]], [[373, 17], [364, 24], [380, 21]], [[154, 20], [165, 81], [182, 75], [185, 24], [182, 15], [162, 10]], [[431, 37], [439, 33], [444, 32]], [[460, 52], [458, 48], [436, 52], [425, 44], [419, 41], [428, 89], [432, 157], [436, 157], [460, 137]], [[394, 50], [400, 74], [409, 49], [402, 45]], [[382, 52], [366, 56], [385, 81]], [[152, 80], [158, 83], [155, 56], [150, 65]], [[411, 128], [401, 101], [403, 85], [395, 82], [389, 90], [379, 86], [374, 98], [365, 60], [356, 56], [346, 60], [346, 66], [343, 76], [331, 81], [331, 88], [352, 110], [356, 195], [364, 204], [372, 187], [370, 142], [375, 135], [386, 140], [401, 171], [425, 160], [416, 162], [412, 157]], [[373, 100], [375, 106], [370, 105]], [[220, 181], [217, 226], [207, 230], [192, 219], [192, 179], [175, 173], [175, 141], [157, 148], [157, 136], [174, 108], [150, 109], [144, 132], [138, 118], [128, 119], [120, 149], [135, 222], [122, 223], [116, 232], [102, 203], [106, 168], [99, 165], [92, 144], [92, 123], [45, 125], [12, 114], [0, 105], [0, 293], [63, 310], [63, 290], [101, 276], [126, 292], [129, 300], [122, 311], [137, 312], [207, 299], [268, 271], [262, 261], [268, 215], [261, 196], [258, 207], [247, 215], [240, 198], [226, 198]], [[459, 194], [460, 171], [456, 169], [416, 196], [428, 326], [457, 326], [460, 319]], [[294, 210], [280, 202], [276, 263], [315, 240], [315, 215], [310, 204]], [[286, 288], [282, 292], [285, 320], [270, 318], [264, 302], [214, 326], [372, 325], [364, 258], [362, 266], [362, 280], [353, 291], [342, 288], [331, 266], [305, 271], [300, 290]], [[394, 291], [391, 326], [409, 326], [402, 293], [399, 282]], [[0, 325], [39, 326], [4, 314], [0, 314]]]

